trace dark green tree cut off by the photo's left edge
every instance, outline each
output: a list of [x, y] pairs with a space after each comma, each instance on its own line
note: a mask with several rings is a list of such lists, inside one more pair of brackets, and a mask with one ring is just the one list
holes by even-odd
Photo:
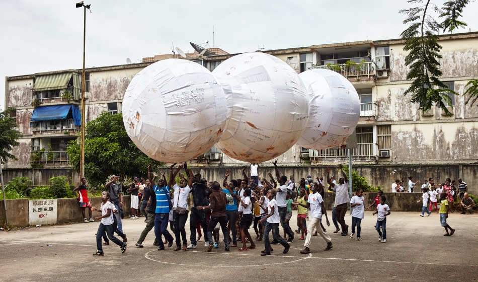
[[22, 132], [18, 131], [17, 121], [10, 117], [10, 113], [16, 109], [10, 108], [0, 112], [0, 161], [6, 163], [9, 159], [18, 160], [10, 152], [14, 147], [20, 145], [18, 138], [22, 137]]

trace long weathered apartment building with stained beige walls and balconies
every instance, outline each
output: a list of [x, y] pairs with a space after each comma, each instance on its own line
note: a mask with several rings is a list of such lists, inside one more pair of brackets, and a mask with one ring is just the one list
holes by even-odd
[[[439, 43], [443, 46], [441, 79], [462, 94], [469, 80], [478, 79], [478, 32], [441, 35]], [[438, 108], [422, 113], [420, 105], [409, 103], [409, 97], [403, 95], [410, 85], [403, 47], [401, 39], [391, 39], [263, 52], [282, 59], [297, 73], [313, 67], [329, 68], [354, 85], [361, 112], [352, 160], [355, 169], [373, 184], [388, 188], [395, 178], [409, 175], [422, 182], [428, 177], [436, 181], [462, 177], [478, 194], [478, 107], [465, 105], [463, 96], [452, 97], [452, 115]], [[211, 48], [203, 56], [188, 53], [186, 59], [213, 70], [233, 55]], [[87, 122], [104, 111], [121, 112], [123, 95], [133, 76], [154, 61], [172, 57], [181, 58], [177, 54], [157, 55], [145, 57], [141, 63], [86, 69]], [[81, 75], [81, 70], [69, 69], [6, 78], [6, 105], [17, 109], [12, 114], [24, 134], [13, 152], [19, 160], [4, 165], [7, 181], [17, 175], [31, 176], [35, 184], [58, 174], [77, 178], [68, 168], [65, 151], [67, 142], [79, 133]], [[72, 96], [68, 100], [65, 90]], [[42, 149], [45, 151], [39, 154]], [[223, 171], [218, 167], [244, 165], [214, 147], [191, 162], [210, 179], [220, 179]], [[285, 174], [296, 178], [321, 175], [326, 165], [339, 163], [348, 163], [345, 149], [314, 151], [294, 146], [279, 157]], [[32, 168], [35, 164], [42, 168]], [[263, 164], [263, 168], [268, 165]], [[261, 174], [266, 176], [266, 170]]]

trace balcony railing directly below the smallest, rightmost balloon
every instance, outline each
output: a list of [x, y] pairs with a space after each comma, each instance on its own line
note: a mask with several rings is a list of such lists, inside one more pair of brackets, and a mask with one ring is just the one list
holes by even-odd
[[[355, 159], [376, 159], [377, 144], [375, 143], [360, 143], [357, 148], [352, 149], [352, 158]], [[304, 153], [302, 153], [304, 154]], [[306, 153], [305, 153], [306, 154]], [[339, 160], [349, 157], [348, 149], [325, 149], [325, 150], [309, 150], [308, 156], [310, 159], [318, 160]]]

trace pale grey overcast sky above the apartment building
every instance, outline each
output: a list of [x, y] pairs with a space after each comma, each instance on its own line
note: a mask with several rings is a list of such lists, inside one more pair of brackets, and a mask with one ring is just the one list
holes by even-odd
[[[71, 0], [0, 0], [0, 109], [5, 77], [82, 68], [83, 8]], [[440, 7], [444, 1], [436, 1]], [[399, 38], [406, 0], [90, 0], [86, 67], [126, 58], [194, 51], [189, 42], [229, 53]], [[478, 31], [478, 4], [466, 7], [458, 32]], [[473, 13], [474, 12], [474, 13]]]

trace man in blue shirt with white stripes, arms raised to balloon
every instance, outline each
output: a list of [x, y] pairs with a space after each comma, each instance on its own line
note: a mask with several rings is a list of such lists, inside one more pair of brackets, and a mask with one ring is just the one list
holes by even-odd
[[[151, 164], [148, 165], [148, 178], [151, 185], [153, 185], [154, 194], [156, 196], [156, 215], [154, 218], [154, 235], [156, 235], [159, 248], [158, 251], [165, 249], [165, 244], [161, 235], [165, 236], [168, 240], [168, 248], [173, 246], [174, 238], [168, 231], [169, 212], [171, 199], [169, 197], [170, 188], [166, 185], [166, 176], [161, 172], [163, 178], [157, 181], [157, 185], [154, 185], [154, 180], [151, 176]], [[153, 194], [151, 194], [153, 197]]]

